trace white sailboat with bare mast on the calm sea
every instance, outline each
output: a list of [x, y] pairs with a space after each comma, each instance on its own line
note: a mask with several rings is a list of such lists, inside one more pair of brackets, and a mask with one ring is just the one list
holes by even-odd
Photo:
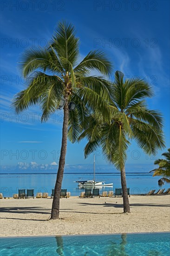
[[113, 183], [105, 184], [105, 182], [95, 181], [95, 154], [94, 154], [94, 163], [93, 163], [93, 180], [91, 181], [76, 181], [78, 182], [78, 187], [100, 187], [100, 186], [113, 186]]

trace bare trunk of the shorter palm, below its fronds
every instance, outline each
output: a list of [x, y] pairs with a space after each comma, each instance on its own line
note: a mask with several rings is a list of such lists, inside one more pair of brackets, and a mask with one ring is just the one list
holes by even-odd
[[129, 198], [127, 194], [127, 187], [126, 187], [126, 174], [124, 166], [121, 168], [121, 184], [122, 184], [122, 193], [123, 193], [123, 202], [124, 202], [124, 213], [130, 213], [130, 205], [129, 205]]

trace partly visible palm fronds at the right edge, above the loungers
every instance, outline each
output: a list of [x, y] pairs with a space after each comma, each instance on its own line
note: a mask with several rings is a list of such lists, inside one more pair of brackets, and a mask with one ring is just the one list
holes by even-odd
[[153, 176], [162, 176], [161, 180], [170, 183], [170, 148], [168, 152], [162, 154], [166, 159], [157, 159], [154, 164], [158, 164], [156, 168], [150, 172], [154, 172]]

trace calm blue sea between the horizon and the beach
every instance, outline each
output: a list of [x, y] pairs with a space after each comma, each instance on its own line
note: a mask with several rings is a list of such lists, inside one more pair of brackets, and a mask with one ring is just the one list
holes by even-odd
[[[84, 189], [78, 188], [78, 180], [92, 180], [93, 174], [86, 175], [82, 173], [65, 173], [62, 183], [62, 188], [71, 192], [71, 195], [80, 195]], [[150, 189], [167, 189], [168, 184], [158, 186], [159, 177], [152, 177], [150, 173], [127, 173], [127, 187], [130, 188], [131, 194], [143, 194], [150, 191]], [[0, 193], [3, 196], [11, 197], [13, 194], [18, 193], [18, 189], [34, 189], [34, 194], [37, 192], [48, 192], [51, 195], [52, 189], [55, 186], [56, 174], [43, 173], [43, 174], [0, 174]], [[121, 187], [120, 173], [113, 174], [96, 174], [96, 181], [105, 181], [105, 183], [113, 183], [113, 187], [100, 187], [102, 190], [109, 191]]]

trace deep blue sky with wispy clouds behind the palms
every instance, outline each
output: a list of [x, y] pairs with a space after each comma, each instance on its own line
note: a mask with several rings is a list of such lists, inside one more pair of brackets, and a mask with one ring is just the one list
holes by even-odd
[[[148, 105], [163, 113], [166, 148], [169, 148], [169, 9], [168, 0], [1, 1], [1, 165], [59, 161], [62, 112], [41, 123], [39, 107], [15, 116], [10, 104], [13, 95], [24, 88], [17, 64], [19, 55], [26, 47], [44, 46], [60, 20], [68, 20], [76, 27], [80, 38], [79, 60], [90, 50], [101, 48], [111, 58], [114, 72], [120, 70], [127, 77], [140, 76], [153, 86], [155, 97], [148, 100]], [[84, 160], [84, 147], [85, 141], [68, 142], [66, 163], [92, 163], [92, 156]], [[133, 142], [127, 163], [153, 163], [161, 153], [148, 157]], [[98, 163], [105, 164], [100, 149], [97, 155]]]

